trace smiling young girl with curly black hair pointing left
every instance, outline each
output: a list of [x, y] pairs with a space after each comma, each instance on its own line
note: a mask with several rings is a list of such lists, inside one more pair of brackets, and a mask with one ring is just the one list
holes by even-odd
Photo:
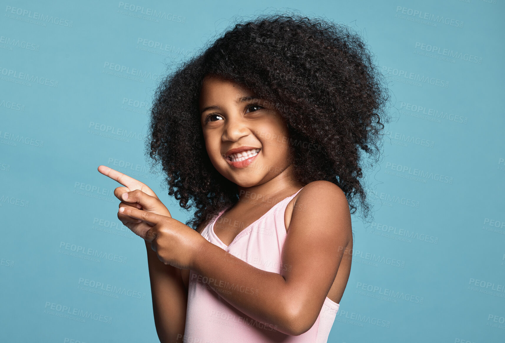
[[[362, 152], [377, 155], [387, 88], [360, 37], [323, 19], [237, 24], [159, 86], [150, 157], [181, 223], [120, 182], [144, 238], [162, 342], [326, 342], [350, 273]], [[193, 203], [190, 205], [189, 201]]]

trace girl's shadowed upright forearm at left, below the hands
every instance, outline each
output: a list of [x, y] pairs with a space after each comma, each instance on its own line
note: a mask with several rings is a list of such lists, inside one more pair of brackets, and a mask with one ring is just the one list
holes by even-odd
[[145, 242], [153, 296], [156, 331], [162, 343], [182, 343], [186, 324], [187, 291], [179, 268], [164, 264]]

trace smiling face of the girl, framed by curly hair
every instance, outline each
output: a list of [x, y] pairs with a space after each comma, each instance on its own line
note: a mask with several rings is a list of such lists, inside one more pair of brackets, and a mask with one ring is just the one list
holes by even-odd
[[199, 107], [207, 153], [231, 182], [260, 185], [291, 164], [289, 131], [273, 104], [229, 80], [207, 76]]

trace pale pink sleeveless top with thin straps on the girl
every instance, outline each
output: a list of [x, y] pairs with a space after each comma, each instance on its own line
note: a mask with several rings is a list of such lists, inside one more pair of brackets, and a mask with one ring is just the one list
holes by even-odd
[[[282, 247], [287, 235], [284, 211], [298, 192], [278, 202], [244, 228], [229, 246], [214, 233], [214, 224], [226, 209], [211, 220], [201, 235], [256, 268], [280, 274]], [[277, 331], [273, 324], [256, 321], [240, 312], [202, 279], [201, 275], [190, 270], [185, 343], [326, 343], [328, 340], [339, 307], [328, 297], [309, 331], [291, 336]]]

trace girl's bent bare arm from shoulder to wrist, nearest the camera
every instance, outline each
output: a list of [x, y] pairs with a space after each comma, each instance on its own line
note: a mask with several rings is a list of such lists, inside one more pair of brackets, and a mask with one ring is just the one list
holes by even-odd
[[281, 274], [268, 272], [212, 244], [202, 244], [191, 269], [235, 308], [278, 331], [299, 335], [314, 325], [352, 240], [347, 199], [316, 181], [300, 192], [283, 248]]

